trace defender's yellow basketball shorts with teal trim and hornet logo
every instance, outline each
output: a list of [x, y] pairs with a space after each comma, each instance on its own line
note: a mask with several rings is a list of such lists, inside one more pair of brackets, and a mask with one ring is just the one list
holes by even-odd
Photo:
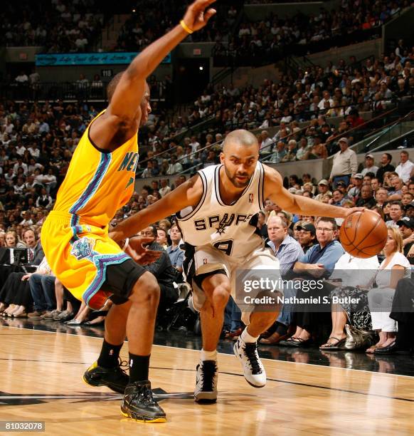
[[127, 301], [146, 271], [110, 239], [108, 227], [78, 215], [52, 211], [43, 224], [41, 242], [53, 274], [91, 308], [102, 308], [112, 296], [115, 303]]

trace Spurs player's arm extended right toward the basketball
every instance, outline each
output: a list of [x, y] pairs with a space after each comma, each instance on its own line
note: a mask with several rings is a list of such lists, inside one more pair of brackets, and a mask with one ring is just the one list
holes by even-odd
[[353, 212], [363, 211], [363, 207], [344, 207], [331, 206], [309, 197], [291, 194], [283, 187], [282, 177], [273, 170], [265, 167], [265, 198], [270, 198], [282, 209], [294, 214], [312, 215], [317, 217], [345, 218]]

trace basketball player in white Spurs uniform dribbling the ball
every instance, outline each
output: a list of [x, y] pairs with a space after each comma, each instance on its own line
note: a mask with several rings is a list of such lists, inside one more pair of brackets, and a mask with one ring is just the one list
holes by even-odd
[[[264, 209], [265, 199], [301, 215], [345, 218], [363, 210], [343, 209], [290, 194], [280, 174], [258, 162], [258, 140], [247, 130], [229, 133], [220, 157], [221, 165], [198, 171], [155, 204], [118, 224], [110, 234], [115, 241], [121, 241], [179, 211], [179, 227], [187, 246], [184, 273], [193, 287], [193, 303], [201, 316], [203, 349], [194, 393], [200, 403], [213, 403], [217, 398], [216, 347], [224, 308], [230, 294], [235, 295], [236, 268], [253, 272], [267, 269], [278, 274], [277, 259], [256, 231], [255, 216]], [[191, 246], [192, 252], [188, 249]], [[266, 383], [257, 340], [275, 321], [279, 309], [275, 305], [272, 311], [243, 313], [247, 327], [235, 343], [234, 352], [245, 379], [256, 388]]]

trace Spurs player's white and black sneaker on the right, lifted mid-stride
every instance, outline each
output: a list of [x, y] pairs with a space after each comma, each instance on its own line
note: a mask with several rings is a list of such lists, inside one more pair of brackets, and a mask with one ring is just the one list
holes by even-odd
[[266, 371], [258, 355], [258, 344], [246, 343], [240, 336], [234, 344], [233, 351], [240, 360], [249, 385], [253, 388], [262, 388], [266, 384]]

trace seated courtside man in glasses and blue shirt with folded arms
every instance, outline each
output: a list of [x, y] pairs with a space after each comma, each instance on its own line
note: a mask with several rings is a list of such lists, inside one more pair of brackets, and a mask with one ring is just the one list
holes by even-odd
[[[319, 218], [316, 229], [318, 244], [312, 246], [304, 256], [299, 257], [293, 269], [294, 272], [305, 274], [311, 279], [327, 279], [331, 276], [336, 262], [345, 251], [341, 244], [336, 241], [338, 226], [334, 218]], [[312, 289], [307, 292], [301, 289], [297, 292], [297, 298], [309, 299], [309, 297], [328, 294], [327, 289]], [[312, 331], [320, 322], [322, 313], [312, 311], [310, 304], [303, 303], [295, 306], [293, 321], [297, 326], [296, 331], [292, 338], [282, 341], [280, 345], [306, 347], [312, 342]]]

